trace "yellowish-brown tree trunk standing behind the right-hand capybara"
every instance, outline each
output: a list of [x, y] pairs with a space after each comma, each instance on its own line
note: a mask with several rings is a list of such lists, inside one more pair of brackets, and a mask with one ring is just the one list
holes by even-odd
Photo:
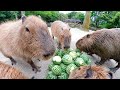
[[86, 14], [85, 14], [85, 19], [83, 21], [83, 29], [88, 31], [89, 30], [89, 26], [90, 26], [90, 16], [91, 16], [91, 12], [90, 11], [86, 11]]

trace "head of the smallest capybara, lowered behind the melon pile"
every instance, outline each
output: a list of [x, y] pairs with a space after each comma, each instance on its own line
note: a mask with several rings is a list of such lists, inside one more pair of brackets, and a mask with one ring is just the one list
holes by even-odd
[[62, 28], [63, 32], [61, 33], [61, 47], [62, 49], [68, 49], [70, 48], [71, 43], [71, 33], [70, 33], [70, 27]]

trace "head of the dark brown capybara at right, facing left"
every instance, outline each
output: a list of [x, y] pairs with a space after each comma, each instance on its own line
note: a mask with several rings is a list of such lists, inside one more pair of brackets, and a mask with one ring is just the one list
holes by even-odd
[[87, 34], [76, 42], [76, 47], [81, 51], [89, 52], [89, 49], [93, 45], [93, 37], [91, 34]]

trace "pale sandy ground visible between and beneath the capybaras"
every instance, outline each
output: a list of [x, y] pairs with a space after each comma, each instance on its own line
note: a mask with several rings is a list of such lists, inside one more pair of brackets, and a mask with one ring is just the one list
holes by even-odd
[[[50, 30], [50, 28], [49, 28]], [[78, 39], [80, 39], [81, 37], [83, 37], [84, 35], [88, 34], [88, 33], [92, 33], [92, 31], [89, 31], [89, 32], [85, 32], [85, 31], [82, 31], [80, 29], [77, 29], [77, 28], [72, 28], [71, 29], [71, 34], [72, 34], [72, 41], [71, 41], [71, 48], [75, 49], [75, 43]], [[96, 60], [99, 60], [100, 58], [95, 56], [94, 55], [94, 58], [93, 57], [90, 57], [93, 62], [92, 62], [92, 65], [94, 64], [94, 62]], [[24, 62], [23, 60], [19, 59], [19, 58], [15, 58], [15, 60], [17, 60], [17, 64], [14, 65], [14, 67], [20, 69], [27, 77], [31, 78], [32, 76], [35, 77], [35, 79], [44, 79], [46, 77], [46, 73], [47, 73], [47, 69], [48, 69], [48, 64], [51, 63], [51, 60], [48, 60], [48, 61], [35, 61], [35, 63], [38, 65], [38, 66], [41, 66], [41, 72], [38, 72], [38, 73], [34, 73], [32, 71], [32, 68], [29, 64], [27, 64], [26, 62]], [[11, 61], [4, 57], [2, 55], [2, 53], [0, 53], [0, 61], [6, 63], [6, 64], [9, 64], [11, 65]], [[109, 70], [107, 67], [114, 67], [116, 65], [116, 62], [114, 62], [113, 60], [109, 61], [109, 62], [106, 62], [103, 66]], [[117, 72], [113, 75], [113, 78], [114, 79], [120, 79], [120, 69], [117, 70]]]

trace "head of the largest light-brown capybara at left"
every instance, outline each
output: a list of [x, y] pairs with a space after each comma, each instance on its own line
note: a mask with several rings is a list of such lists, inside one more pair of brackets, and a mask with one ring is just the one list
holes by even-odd
[[48, 60], [55, 52], [47, 24], [39, 17], [22, 17], [19, 38], [22, 49], [32, 58]]

